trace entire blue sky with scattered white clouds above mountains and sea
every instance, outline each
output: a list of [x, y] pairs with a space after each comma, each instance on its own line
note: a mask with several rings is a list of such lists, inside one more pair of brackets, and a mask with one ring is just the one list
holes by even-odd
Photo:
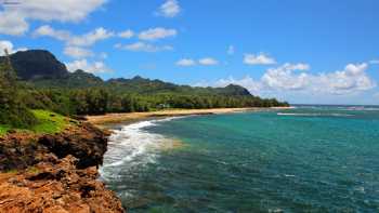
[[378, 105], [378, 11], [377, 0], [0, 0], [0, 55], [43, 49], [105, 80]]

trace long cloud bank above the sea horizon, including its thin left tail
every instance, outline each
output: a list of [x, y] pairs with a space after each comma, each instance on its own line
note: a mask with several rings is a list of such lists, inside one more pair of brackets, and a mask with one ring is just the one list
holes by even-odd
[[230, 83], [247, 88], [253, 94], [284, 94], [301, 92], [303, 94], [348, 95], [374, 89], [377, 83], [366, 74], [368, 65], [349, 64], [342, 70], [310, 74], [308, 64], [284, 64], [269, 68], [258, 80], [251, 77], [220, 79], [208, 83], [224, 86]]

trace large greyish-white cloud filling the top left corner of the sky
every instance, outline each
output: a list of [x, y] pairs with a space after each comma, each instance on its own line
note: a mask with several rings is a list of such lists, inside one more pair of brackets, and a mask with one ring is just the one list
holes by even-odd
[[16, 6], [2, 5], [0, 12], [0, 34], [23, 35], [28, 28], [28, 21], [80, 22], [88, 14], [103, 5], [107, 0], [27, 0]]

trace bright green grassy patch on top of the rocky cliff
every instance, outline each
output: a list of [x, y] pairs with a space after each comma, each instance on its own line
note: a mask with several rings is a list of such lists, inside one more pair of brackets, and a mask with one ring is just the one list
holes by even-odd
[[[37, 134], [52, 134], [61, 132], [65, 128], [73, 125], [77, 122], [58, 114], [54, 114], [47, 110], [32, 110], [32, 112], [39, 121], [38, 124], [32, 127], [30, 130], [17, 131], [31, 131]], [[10, 130], [9, 127], [0, 125], [0, 135], [4, 135], [8, 130]]]

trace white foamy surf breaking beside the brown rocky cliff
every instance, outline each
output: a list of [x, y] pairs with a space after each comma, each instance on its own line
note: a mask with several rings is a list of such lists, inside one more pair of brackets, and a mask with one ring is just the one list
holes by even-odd
[[[155, 163], [160, 147], [167, 148], [173, 144], [172, 138], [161, 134], [146, 131], [148, 127], [159, 122], [177, 118], [161, 120], [141, 121], [115, 130], [108, 141], [108, 150], [104, 156], [104, 165], [101, 168], [103, 178], [117, 177], [117, 172], [141, 168], [148, 163]], [[107, 171], [112, 171], [107, 172]]]

